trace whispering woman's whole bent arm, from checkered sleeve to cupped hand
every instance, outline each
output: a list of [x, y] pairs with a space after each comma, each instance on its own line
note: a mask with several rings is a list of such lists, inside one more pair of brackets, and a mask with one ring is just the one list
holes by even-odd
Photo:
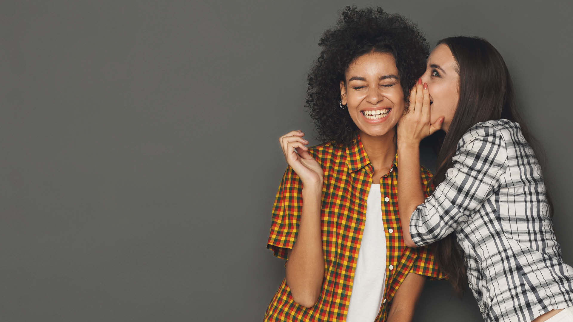
[[[410, 93], [411, 111], [398, 123], [398, 148], [402, 147], [407, 154], [406, 157], [410, 160], [406, 162], [411, 162], [410, 167], [415, 162], [410, 156], [414, 153], [414, 147], [423, 138], [441, 128], [444, 121], [444, 117], [441, 117], [434, 124], [430, 124], [430, 97], [426, 84], [423, 91], [420, 84], [418, 82], [417, 87]], [[400, 211], [400, 221], [406, 245], [423, 246], [446, 237], [467, 221], [469, 215], [500, 187], [501, 176], [507, 170], [507, 148], [503, 135], [487, 124], [474, 125], [462, 137], [452, 164], [453, 167], [446, 172], [444, 181], [413, 213], [403, 207], [411, 207], [410, 202], [414, 203], [419, 199], [405, 199], [418, 197], [411, 191], [409, 194], [407, 187], [399, 186], [398, 202], [403, 210]], [[407, 168], [400, 168], [401, 175], [402, 171], [409, 171]], [[406, 184], [412, 185], [411, 182]], [[402, 197], [401, 191], [406, 191]]]

